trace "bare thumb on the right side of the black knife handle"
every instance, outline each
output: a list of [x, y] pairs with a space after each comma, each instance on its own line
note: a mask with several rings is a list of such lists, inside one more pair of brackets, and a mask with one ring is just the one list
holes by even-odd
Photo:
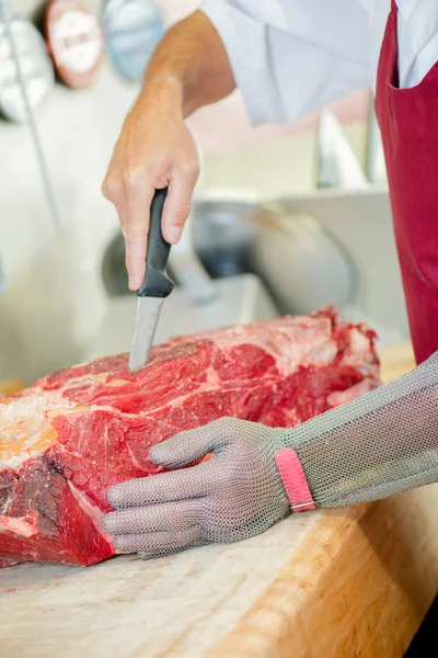
[[163, 236], [171, 245], [180, 241], [184, 224], [192, 209], [192, 197], [198, 173], [193, 169], [175, 169], [163, 207]]

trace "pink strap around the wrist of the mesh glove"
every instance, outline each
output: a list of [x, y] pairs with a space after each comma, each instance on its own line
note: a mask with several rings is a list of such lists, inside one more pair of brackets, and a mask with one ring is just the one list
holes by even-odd
[[285, 485], [290, 506], [293, 512], [314, 510], [308, 480], [300, 464], [297, 453], [291, 447], [284, 447], [275, 455], [278, 473]]

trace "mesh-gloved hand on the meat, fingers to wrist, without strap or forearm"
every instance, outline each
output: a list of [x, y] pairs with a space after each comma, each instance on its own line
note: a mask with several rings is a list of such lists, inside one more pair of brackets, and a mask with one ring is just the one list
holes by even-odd
[[111, 489], [116, 511], [106, 514], [104, 527], [114, 535], [117, 551], [150, 558], [267, 530], [290, 510], [275, 464], [284, 433], [222, 418], [153, 446], [150, 458], [168, 468], [212, 456], [197, 466]]

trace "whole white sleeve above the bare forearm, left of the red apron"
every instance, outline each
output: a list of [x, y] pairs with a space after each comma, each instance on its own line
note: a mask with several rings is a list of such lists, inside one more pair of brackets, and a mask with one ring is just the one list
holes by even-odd
[[[330, 8], [328, 8], [330, 5]], [[253, 124], [286, 123], [370, 86], [356, 0], [204, 0]]]

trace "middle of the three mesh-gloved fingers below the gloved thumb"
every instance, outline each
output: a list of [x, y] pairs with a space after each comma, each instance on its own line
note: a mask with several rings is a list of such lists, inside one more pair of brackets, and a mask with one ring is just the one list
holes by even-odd
[[149, 504], [105, 514], [103, 526], [112, 535], [193, 527], [201, 517], [199, 499]]

